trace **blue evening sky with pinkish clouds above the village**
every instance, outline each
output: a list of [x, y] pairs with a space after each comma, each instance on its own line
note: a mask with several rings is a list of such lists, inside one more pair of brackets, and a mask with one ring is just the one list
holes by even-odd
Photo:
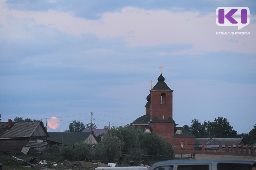
[[[218, 7], [248, 7], [249, 24], [218, 26]], [[255, 0], [0, 0], [0, 14], [2, 122], [125, 126], [145, 114], [163, 65], [178, 126], [256, 124]]]

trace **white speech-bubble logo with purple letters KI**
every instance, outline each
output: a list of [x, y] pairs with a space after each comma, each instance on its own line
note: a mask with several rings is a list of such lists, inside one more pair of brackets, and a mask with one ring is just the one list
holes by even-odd
[[218, 26], [237, 26], [238, 30], [250, 23], [250, 10], [247, 7], [218, 7], [216, 24]]

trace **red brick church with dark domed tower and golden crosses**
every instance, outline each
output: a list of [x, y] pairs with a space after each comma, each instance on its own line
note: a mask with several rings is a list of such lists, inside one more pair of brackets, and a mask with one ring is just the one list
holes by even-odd
[[149, 90], [147, 104], [145, 105], [146, 114], [128, 124], [135, 128], [142, 128], [144, 132], [156, 132], [159, 136], [164, 137], [167, 141], [174, 144], [175, 153], [193, 153], [194, 138], [190, 132], [182, 127], [177, 127], [172, 117], [172, 92], [164, 82], [161, 74], [158, 82]]

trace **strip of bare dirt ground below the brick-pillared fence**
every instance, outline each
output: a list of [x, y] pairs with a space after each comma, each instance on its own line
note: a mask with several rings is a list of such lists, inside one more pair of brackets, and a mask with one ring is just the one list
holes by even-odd
[[248, 156], [231, 156], [231, 155], [199, 155], [196, 154], [195, 159], [250, 159], [256, 160], [255, 157], [248, 157]]

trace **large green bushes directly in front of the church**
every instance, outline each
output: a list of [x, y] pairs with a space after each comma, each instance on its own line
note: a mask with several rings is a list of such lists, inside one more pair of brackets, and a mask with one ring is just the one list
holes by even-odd
[[[153, 155], [153, 159], [155, 155], [164, 155], [169, 159], [174, 156], [173, 145], [154, 132], [144, 133], [140, 128], [135, 129], [132, 126], [105, 127], [105, 129], [107, 133], [96, 147], [96, 154], [104, 157], [105, 160], [111, 161], [115, 158], [114, 155], [117, 156], [121, 152], [128, 153], [135, 159], [143, 154]], [[123, 147], [114, 151], [112, 148], [120, 146], [120, 143], [123, 143], [121, 144]]]

